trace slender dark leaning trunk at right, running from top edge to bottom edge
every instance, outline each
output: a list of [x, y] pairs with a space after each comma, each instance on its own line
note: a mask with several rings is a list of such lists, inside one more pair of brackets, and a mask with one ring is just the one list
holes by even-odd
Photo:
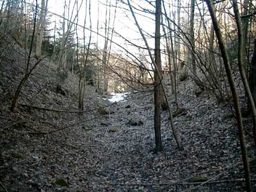
[[245, 139], [244, 139], [244, 128], [243, 128], [243, 122], [242, 122], [242, 115], [241, 115], [239, 99], [238, 99], [237, 92], [236, 92], [236, 84], [235, 84], [234, 79], [232, 77], [232, 72], [231, 72], [231, 68], [230, 68], [230, 61], [229, 61], [229, 58], [228, 58], [227, 49], [226, 49], [224, 41], [223, 41], [223, 37], [221, 36], [221, 31], [220, 31], [220, 27], [219, 27], [219, 24], [218, 24], [218, 20], [216, 18], [214, 5], [212, 4], [211, 0], [205, 0], [205, 2], [207, 3], [208, 9], [209, 9], [209, 12], [210, 12], [210, 15], [211, 15], [212, 24], [214, 26], [214, 31], [215, 31], [216, 37], [218, 39], [218, 44], [219, 44], [219, 47], [220, 47], [221, 56], [223, 58], [223, 63], [224, 63], [225, 71], [226, 71], [227, 78], [228, 78], [228, 83], [229, 83], [229, 86], [230, 86], [230, 90], [232, 92], [232, 97], [233, 97], [233, 101], [234, 101], [234, 108], [235, 108], [235, 111], [236, 111], [236, 121], [237, 121], [237, 129], [238, 129], [238, 132], [239, 132], [241, 153], [242, 153], [242, 157], [243, 157], [244, 177], [245, 177], [245, 180], [246, 180], [246, 190], [248, 192], [251, 192], [252, 191], [252, 185], [251, 185], [251, 177], [250, 177], [250, 166], [249, 166], [249, 163], [248, 163], [248, 156], [247, 156], [246, 144], [245, 144]]

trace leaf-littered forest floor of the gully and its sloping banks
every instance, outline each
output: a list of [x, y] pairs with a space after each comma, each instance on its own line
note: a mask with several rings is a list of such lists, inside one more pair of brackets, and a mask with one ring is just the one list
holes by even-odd
[[[77, 114], [77, 76], [68, 74], [64, 81], [45, 60], [10, 113], [25, 60], [19, 47], [0, 51], [0, 191], [244, 191], [232, 108], [207, 93], [196, 97], [191, 79], [179, 82], [185, 110], [174, 118], [184, 150], [177, 148], [163, 111], [164, 150], [155, 154], [153, 92], [112, 103], [106, 100], [110, 94], [88, 86], [85, 111]], [[244, 125], [253, 158], [249, 118]], [[256, 191], [256, 162], [250, 166]]]

